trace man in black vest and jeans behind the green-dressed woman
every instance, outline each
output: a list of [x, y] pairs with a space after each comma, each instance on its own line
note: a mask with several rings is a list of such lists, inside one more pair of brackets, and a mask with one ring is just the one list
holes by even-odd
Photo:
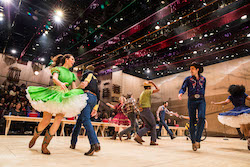
[[79, 86], [79, 88], [83, 89], [84, 92], [87, 93], [89, 99], [87, 101], [87, 106], [82, 110], [81, 114], [77, 119], [76, 125], [72, 133], [70, 146], [71, 149], [75, 149], [77, 137], [79, 135], [83, 123], [91, 145], [90, 150], [84, 154], [87, 156], [91, 156], [94, 154], [94, 152], [98, 152], [101, 149], [100, 143], [97, 139], [97, 135], [90, 120], [91, 116], [93, 117], [97, 114], [100, 100], [98, 81], [97, 78], [94, 76], [94, 69], [95, 68], [92, 65], [87, 66], [82, 76], [81, 85]]

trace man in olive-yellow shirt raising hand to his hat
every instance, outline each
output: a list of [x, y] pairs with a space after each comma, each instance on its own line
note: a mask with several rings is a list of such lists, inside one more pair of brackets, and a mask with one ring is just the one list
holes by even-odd
[[[155, 90], [151, 89], [151, 85], [155, 87]], [[156, 143], [156, 121], [151, 110], [151, 95], [153, 93], [159, 92], [160, 89], [155, 85], [153, 81], [144, 82], [144, 91], [140, 95], [139, 105], [141, 108], [141, 119], [143, 120], [145, 126], [140, 129], [136, 136], [135, 141], [139, 144], [142, 144], [142, 136], [144, 136], [148, 131], [151, 131], [151, 142], [150, 145], [158, 145]]]

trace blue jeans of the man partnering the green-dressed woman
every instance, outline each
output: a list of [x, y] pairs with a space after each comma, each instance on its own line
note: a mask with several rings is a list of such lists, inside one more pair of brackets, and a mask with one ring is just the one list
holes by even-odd
[[81, 114], [79, 115], [76, 125], [74, 126], [73, 133], [72, 133], [72, 138], [71, 138], [71, 144], [75, 145], [77, 142], [77, 137], [79, 135], [79, 132], [81, 130], [81, 126], [83, 123], [84, 128], [86, 129], [86, 133], [88, 135], [88, 139], [90, 144], [96, 144], [99, 143], [97, 139], [97, 135], [95, 133], [94, 127], [91, 124], [91, 112], [95, 105], [97, 104], [97, 98], [95, 95], [91, 93], [87, 93], [88, 95], [88, 101], [87, 101], [87, 106], [81, 111]]

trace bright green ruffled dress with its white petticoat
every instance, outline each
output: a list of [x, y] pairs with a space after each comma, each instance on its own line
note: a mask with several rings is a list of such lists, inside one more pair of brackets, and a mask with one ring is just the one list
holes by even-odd
[[[77, 79], [74, 73], [62, 66], [52, 68], [51, 73], [58, 73], [58, 79], [67, 83], [67, 87]], [[29, 102], [37, 111], [46, 111], [53, 115], [63, 113], [65, 117], [80, 114], [88, 100], [82, 89], [62, 90], [60, 86], [29, 86], [26, 92]]]

